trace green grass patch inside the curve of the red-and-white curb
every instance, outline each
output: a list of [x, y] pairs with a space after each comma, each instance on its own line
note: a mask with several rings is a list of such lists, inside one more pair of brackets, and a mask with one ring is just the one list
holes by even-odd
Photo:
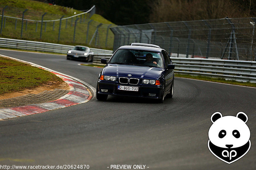
[[61, 82], [59, 77], [46, 70], [0, 57], [0, 95]]

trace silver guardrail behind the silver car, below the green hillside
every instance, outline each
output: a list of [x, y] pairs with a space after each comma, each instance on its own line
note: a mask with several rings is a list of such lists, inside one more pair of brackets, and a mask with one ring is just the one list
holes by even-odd
[[[67, 51], [74, 46], [63, 45], [63, 44], [54, 44], [54, 43], [46, 43], [39, 41], [28, 41], [28, 40], [20, 40], [20, 39], [6, 39], [0, 38], [0, 47], [7, 48], [18, 48], [23, 50], [36, 50], [43, 52], [53, 52], [53, 53], [67, 53]], [[91, 48], [91, 50], [95, 54], [111, 54], [113, 51], [111, 50], [103, 50], [98, 48]]]

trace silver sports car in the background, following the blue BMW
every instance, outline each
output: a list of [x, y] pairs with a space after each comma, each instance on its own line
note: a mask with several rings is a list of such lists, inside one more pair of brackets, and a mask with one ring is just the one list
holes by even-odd
[[83, 60], [85, 62], [93, 60], [93, 52], [87, 46], [75, 46], [74, 48], [68, 50], [67, 60], [77, 59]]

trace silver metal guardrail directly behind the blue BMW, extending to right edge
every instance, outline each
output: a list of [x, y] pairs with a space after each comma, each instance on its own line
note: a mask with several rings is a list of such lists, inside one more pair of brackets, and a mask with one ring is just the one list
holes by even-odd
[[[96, 55], [93, 61], [100, 63], [101, 58], [109, 60], [110, 57], [111, 55], [109, 54]], [[175, 64], [174, 73], [256, 83], [256, 61], [177, 57], [171, 57], [171, 60]]]

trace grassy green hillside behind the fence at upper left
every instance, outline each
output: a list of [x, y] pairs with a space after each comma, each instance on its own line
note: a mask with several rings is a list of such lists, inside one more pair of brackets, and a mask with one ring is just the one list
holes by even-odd
[[[22, 12], [25, 9], [28, 9], [28, 11], [24, 13], [24, 18], [38, 21], [38, 22], [23, 21], [22, 39], [67, 44], [67, 45], [85, 45], [85, 46], [103, 48], [103, 49], [113, 48], [114, 35], [110, 31], [110, 29], [108, 29], [108, 26], [110, 24], [111, 24], [111, 27], [116, 25], [98, 14], [93, 14], [92, 16], [90, 14], [83, 14], [74, 18], [61, 20], [60, 41], [58, 41], [59, 26], [60, 26], [59, 19], [63, 15], [64, 15], [64, 18], [67, 18], [75, 14], [82, 13], [81, 11], [74, 10], [68, 7], [59, 6], [59, 5], [50, 5], [50, 4], [46, 4], [38, 1], [31, 1], [31, 0], [16, 0], [16, 1], [0, 0], [1, 13], [3, 8], [6, 5], [8, 5], [8, 7], [4, 10], [5, 16], [22, 18]], [[58, 19], [58, 21], [43, 22], [42, 35], [41, 35], [42, 37], [40, 39], [41, 19], [42, 19], [42, 15], [45, 12], [47, 13], [44, 15], [44, 20]], [[76, 19], [77, 19], [76, 34], [75, 34], [75, 41], [73, 41]], [[89, 27], [88, 27], [88, 23], [89, 23]], [[102, 25], [99, 27], [98, 37], [97, 37], [95, 30], [97, 25], [99, 25], [100, 23], [102, 23]], [[22, 25], [22, 22], [19, 19], [7, 18], [7, 17], [3, 18], [2, 34], [0, 34], [0, 37], [21, 39], [21, 25]], [[88, 36], [87, 36], [87, 27], [89, 28]], [[107, 39], [107, 45], [106, 45], [107, 30], [108, 30], [108, 39]], [[87, 39], [87, 42], [86, 42], [86, 39]], [[97, 39], [97, 42], [95, 42], [95, 39]]]

